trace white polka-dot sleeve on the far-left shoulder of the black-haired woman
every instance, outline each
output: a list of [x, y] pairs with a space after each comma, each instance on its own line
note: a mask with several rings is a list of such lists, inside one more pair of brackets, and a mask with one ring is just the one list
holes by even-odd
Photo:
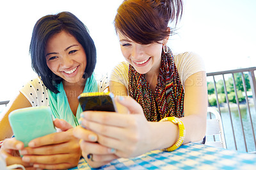
[[23, 86], [22, 89], [20, 89], [20, 93], [28, 99], [33, 107], [41, 105], [49, 106], [47, 88], [39, 77], [29, 81]]

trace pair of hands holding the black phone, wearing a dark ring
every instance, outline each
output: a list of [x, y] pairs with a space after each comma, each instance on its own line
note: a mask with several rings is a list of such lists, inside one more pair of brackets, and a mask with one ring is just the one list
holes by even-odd
[[[138, 156], [152, 147], [145, 143], [152, 141], [152, 124], [146, 120], [140, 104], [131, 97], [121, 97], [117, 102], [126, 107], [129, 114], [86, 111], [81, 114], [82, 127], [74, 130], [74, 135], [82, 139], [83, 156], [92, 167], [102, 166], [119, 157]], [[97, 134], [98, 143], [90, 141], [89, 133]], [[88, 158], [90, 154], [93, 158]]]

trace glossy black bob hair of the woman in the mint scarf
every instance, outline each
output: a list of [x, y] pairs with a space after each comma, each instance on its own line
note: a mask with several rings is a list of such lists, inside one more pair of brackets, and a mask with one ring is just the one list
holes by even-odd
[[45, 86], [54, 93], [59, 93], [56, 85], [63, 79], [52, 73], [45, 59], [45, 46], [51, 36], [66, 31], [74, 36], [83, 46], [86, 53], [87, 65], [83, 78], [87, 79], [93, 73], [96, 65], [96, 48], [89, 35], [89, 31], [81, 20], [70, 12], [61, 12], [56, 15], [46, 15], [39, 19], [33, 29], [29, 53], [33, 70], [41, 77]]

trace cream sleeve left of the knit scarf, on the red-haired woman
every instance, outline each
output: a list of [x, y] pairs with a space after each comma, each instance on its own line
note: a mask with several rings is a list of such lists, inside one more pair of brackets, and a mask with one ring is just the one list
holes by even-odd
[[123, 61], [113, 68], [110, 73], [109, 81], [119, 82], [123, 84], [125, 88], [128, 89], [128, 82], [129, 82], [129, 63]]

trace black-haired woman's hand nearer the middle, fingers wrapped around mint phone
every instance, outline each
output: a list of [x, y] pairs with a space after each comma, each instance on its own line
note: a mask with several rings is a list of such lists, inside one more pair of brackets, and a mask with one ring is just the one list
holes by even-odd
[[65, 120], [54, 120], [62, 132], [33, 139], [29, 147], [20, 151], [22, 161], [42, 169], [68, 169], [77, 166], [81, 157], [79, 140], [74, 137], [71, 125]]

